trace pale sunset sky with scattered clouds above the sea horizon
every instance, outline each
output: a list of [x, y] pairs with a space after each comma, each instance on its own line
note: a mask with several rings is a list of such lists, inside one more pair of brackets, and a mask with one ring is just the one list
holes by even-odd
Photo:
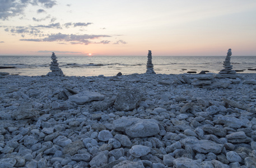
[[255, 0], [0, 0], [0, 55], [256, 55]]

